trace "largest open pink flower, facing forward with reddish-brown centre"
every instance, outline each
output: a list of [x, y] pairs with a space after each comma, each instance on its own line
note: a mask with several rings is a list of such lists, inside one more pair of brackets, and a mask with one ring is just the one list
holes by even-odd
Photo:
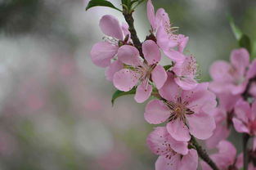
[[174, 82], [173, 74], [168, 73], [166, 83], [159, 90], [164, 100], [153, 100], [146, 105], [146, 121], [159, 124], [168, 120], [167, 130], [177, 141], [190, 141], [191, 135], [208, 139], [213, 134], [215, 122], [206, 113], [215, 108], [216, 100], [207, 88], [208, 83], [200, 83], [190, 91], [182, 90]]

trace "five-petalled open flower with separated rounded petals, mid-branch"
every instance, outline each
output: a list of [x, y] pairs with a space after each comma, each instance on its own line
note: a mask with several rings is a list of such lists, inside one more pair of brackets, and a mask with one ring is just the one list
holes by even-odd
[[128, 92], [137, 86], [135, 100], [139, 103], [146, 101], [151, 92], [152, 85], [159, 89], [166, 79], [164, 67], [158, 65], [161, 59], [158, 46], [152, 40], [142, 43], [142, 51], [146, 61], [142, 61], [136, 47], [124, 45], [119, 48], [118, 58], [126, 66], [115, 73], [113, 83], [120, 91]]

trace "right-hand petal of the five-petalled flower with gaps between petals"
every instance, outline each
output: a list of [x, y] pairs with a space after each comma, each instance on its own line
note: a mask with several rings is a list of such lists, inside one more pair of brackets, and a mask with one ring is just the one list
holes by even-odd
[[152, 74], [152, 80], [155, 83], [155, 86], [158, 89], [163, 87], [168, 77], [164, 67], [161, 65], [156, 65], [155, 69], [153, 69], [151, 74]]

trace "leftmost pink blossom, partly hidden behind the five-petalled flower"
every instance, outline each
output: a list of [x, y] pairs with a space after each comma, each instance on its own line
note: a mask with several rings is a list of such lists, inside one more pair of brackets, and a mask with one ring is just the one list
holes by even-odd
[[100, 20], [101, 31], [106, 34], [104, 42], [97, 42], [91, 50], [92, 62], [106, 69], [106, 78], [110, 81], [113, 79], [115, 72], [123, 69], [119, 60], [111, 62], [117, 55], [119, 46], [129, 43], [128, 25], [120, 25], [115, 16], [106, 15]]

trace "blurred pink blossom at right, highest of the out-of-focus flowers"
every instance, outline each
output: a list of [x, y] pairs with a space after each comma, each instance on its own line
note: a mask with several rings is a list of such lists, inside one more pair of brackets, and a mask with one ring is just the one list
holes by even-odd
[[245, 91], [248, 83], [246, 69], [249, 66], [249, 52], [245, 48], [231, 51], [231, 63], [218, 60], [210, 67], [213, 82], [209, 88], [215, 93], [230, 92], [233, 95]]

